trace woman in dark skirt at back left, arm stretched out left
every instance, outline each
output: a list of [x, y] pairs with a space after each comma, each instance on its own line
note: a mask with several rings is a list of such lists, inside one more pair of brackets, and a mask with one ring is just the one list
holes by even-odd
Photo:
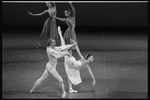
[[55, 3], [53, 3], [53, 6], [52, 6], [50, 2], [46, 2], [46, 5], [47, 5], [48, 9], [39, 14], [32, 14], [31, 12], [28, 12], [32, 16], [41, 16], [45, 13], [48, 13], [50, 16], [44, 23], [43, 30], [38, 39], [36, 48], [38, 48], [40, 46], [40, 41], [43, 36], [45, 36], [46, 38], [58, 38], [58, 30], [57, 30], [56, 20], [54, 17], [51, 17], [51, 16], [56, 16], [56, 14], [57, 14], [56, 5], [55, 5]]

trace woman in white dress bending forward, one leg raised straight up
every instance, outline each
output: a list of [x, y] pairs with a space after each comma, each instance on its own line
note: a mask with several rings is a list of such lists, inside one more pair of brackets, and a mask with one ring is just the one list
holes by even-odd
[[[58, 27], [58, 33], [60, 35], [61, 45], [63, 46], [63, 45], [65, 45], [65, 41], [62, 37], [60, 27]], [[71, 39], [71, 43], [76, 43], [76, 42]], [[91, 71], [91, 68], [88, 65], [88, 63], [93, 62], [93, 56], [91, 54], [87, 54], [86, 59], [84, 59], [78, 46], [75, 45], [74, 48], [78, 52], [78, 54], [80, 56], [80, 60], [77, 61], [75, 59], [75, 57], [73, 57], [72, 55], [69, 55], [69, 56], [65, 56], [65, 62], [64, 62], [65, 71], [68, 76], [69, 93], [77, 92], [77, 90], [72, 89], [72, 84], [77, 85], [82, 82], [79, 69], [87, 68], [91, 77], [93, 78], [92, 84], [93, 84], [93, 86], [95, 85], [95, 77]], [[66, 51], [66, 52], [69, 53], [68, 51]]]

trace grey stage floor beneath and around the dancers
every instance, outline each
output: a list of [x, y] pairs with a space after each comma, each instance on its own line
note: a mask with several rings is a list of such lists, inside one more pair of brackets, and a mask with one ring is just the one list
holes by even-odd
[[[46, 39], [36, 49], [37, 34], [10, 33], [2, 37], [2, 98], [51, 99], [60, 98], [58, 81], [49, 76], [34, 94], [29, 91], [42, 75], [48, 61]], [[93, 34], [93, 33], [91, 33]], [[90, 53], [90, 64], [96, 78], [87, 69], [80, 70], [82, 83], [73, 86], [78, 93], [68, 93], [63, 58], [58, 60], [57, 71], [62, 76], [67, 95], [65, 98], [148, 98], [148, 40], [140, 36], [77, 35], [82, 54]], [[73, 55], [79, 59], [74, 51]]]

